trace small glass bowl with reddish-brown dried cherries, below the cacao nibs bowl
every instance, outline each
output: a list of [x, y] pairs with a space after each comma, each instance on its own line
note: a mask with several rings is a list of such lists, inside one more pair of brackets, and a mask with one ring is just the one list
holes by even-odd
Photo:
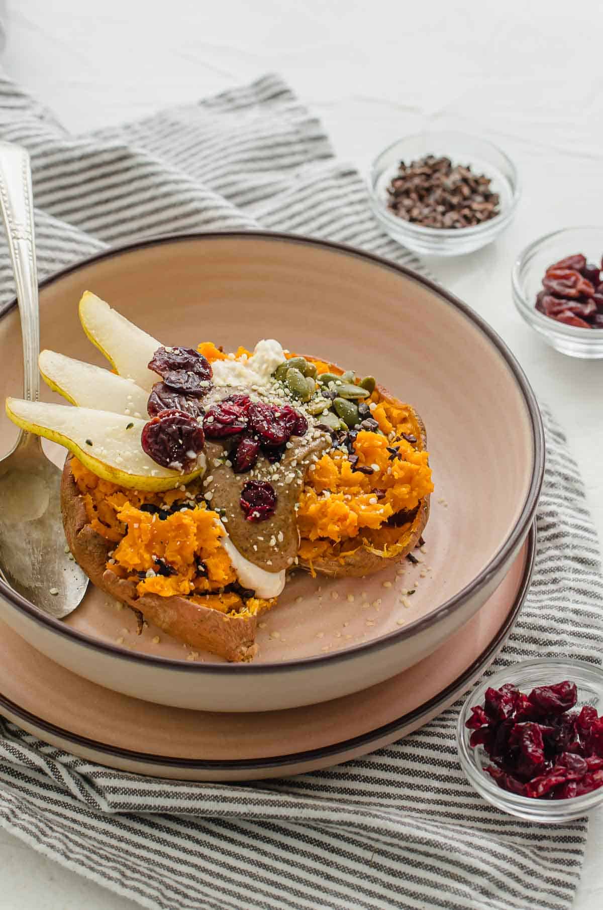
[[603, 358], [603, 227], [566, 227], [531, 243], [511, 276], [520, 316], [552, 348]]

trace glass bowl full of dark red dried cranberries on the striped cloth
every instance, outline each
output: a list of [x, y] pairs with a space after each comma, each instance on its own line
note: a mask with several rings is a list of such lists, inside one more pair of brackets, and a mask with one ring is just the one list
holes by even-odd
[[524, 661], [478, 685], [456, 740], [467, 780], [498, 809], [563, 824], [603, 803], [603, 670]]

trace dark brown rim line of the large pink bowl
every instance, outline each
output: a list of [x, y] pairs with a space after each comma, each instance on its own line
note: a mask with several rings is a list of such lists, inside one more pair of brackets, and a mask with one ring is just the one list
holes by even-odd
[[[105, 259], [121, 256], [125, 253], [127, 254], [135, 252], [138, 249], [157, 247], [169, 243], [190, 242], [191, 240], [210, 242], [212, 240], [224, 240], [225, 238], [236, 239], [240, 240], [241, 242], [245, 242], [246, 240], [263, 240], [268, 242], [272, 240], [279, 240], [285, 241], [287, 243], [302, 244], [305, 246], [332, 250], [332, 252], [339, 253], [341, 255], [365, 259], [369, 262], [373, 262], [375, 265], [381, 268], [387, 268], [389, 271], [404, 275], [405, 278], [412, 278], [418, 284], [422, 284], [425, 288], [429, 288], [439, 298], [444, 299], [446, 303], [450, 304], [450, 306], [460, 310], [460, 312], [463, 313], [467, 319], [473, 322], [476, 328], [480, 329], [485, 337], [491, 341], [492, 344], [494, 344], [496, 349], [498, 349], [498, 352], [501, 354], [502, 358], [506, 361], [507, 367], [515, 377], [516, 383], [523, 393], [524, 400], [526, 402], [526, 408], [531, 420], [532, 440], [534, 443], [534, 470], [532, 473], [532, 479], [530, 481], [530, 487], [527, 491], [526, 502], [524, 503], [521, 514], [516, 521], [515, 528], [508, 535], [506, 541], [495, 553], [487, 566], [485, 566], [485, 569], [476, 575], [473, 581], [470, 581], [469, 584], [465, 585], [465, 588], [463, 588], [462, 591], [459, 591], [457, 594], [455, 594], [454, 597], [451, 597], [449, 600], [445, 601], [436, 610], [429, 613], [427, 616], [424, 616], [422, 619], [409, 623], [409, 625], [404, 626], [404, 628], [400, 629], [400, 631], [389, 632], [386, 635], [382, 635], [380, 638], [374, 639], [372, 642], [353, 645], [350, 648], [346, 648], [344, 651], [336, 652], [334, 654], [301, 657], [293, 661], [255, 664], [253, 662], [208, 664], [178, 661], [172, 658], [156, 657], [152, 654], [132, 653], [118, 648], [116, 645], [110, 644], [108, 642], [98, 642], [96, 639], [90, 637], [89, 635], [85, 635], [83, 632], [77, 632], [75, 629], [71, 629], [70, 626], [65, 625], [60, 620], [56, 620], [53, 617], [46, 615], [46, 613], [38, 610], [38, 608], [34, 606], [33, 603], [27, 601], [26, 598], [21, 594], [13, 591], [13, 589], [10, 588], [5, 583], [5, 581], [2, 580], [0, 580], [0, 594], [5, 597], [5, 600], [11, 602], [19, 612], [25, 613], [30, 620], [37, 622], [39, 625], [46, 626], [47, 629], [50, 629], [52, 632], [56, 632], [59, 635], [63, 635], [71, 641], [79, 642], [87, 648], [92, 648], [95, 651], [111, 654], [121, 660], [132, 661], [135, 663], [141, 662], [156, 667], [166, 667], [170, 668], [171, 670], [178, 670], [179, 672], [200, 674], [229, 674], [232, 672], [237, 672], [245, 675], [260, 675], [261, 673], [273, 672], [282, 673], [299, 670], [301, 667], [308, 665], [316, 666], [322, 663], [333, 664], [336, 662], [348, 661], [359, 653], [376, 653], [382, 651], [383, 648], [389, 648], [397, 642], [402, 642], [405, 638], [410, 638], [417, 632], [423, 632], [425, 629], [430, 628], [430, 626], [438, 622], [447, 613], [451, 613], [457, 610], [460, 606], [462, 606], [462, 604], [468, 601], [475, 594], [475, 591], [478, 591], [480, 588], [482, 588], [485, 584], [488, 583], [488, 581], [492, 579], [494, 575], [496, 575], [496, 572], [506, 561], [509, 554], [511, 554], [516, 549], [516, 547], [524, 541], [526, 532], [534, 520], [545, 470], [545, 437], [542, 418], [540, 416], [540, 410], [538, 409], [536, 396], [534, 395], [534, 392], [532, 391], [532, 388], [526, 379], [526, 374], [519, 366], [519, 363], [511, 351], [506, 347], [503, 339], [501, 339], [496, 334], [494, 329], [490, 328], [484, 319], [478, 316], [473, 309], [468, 307], [466, 303], [463, 303], [458, 298], [455, 298], [453, 294], [444, 288], [440, 288], [434, 283], [434, 281], [430, 281], [429, 278], [424, 278], [422, 275], [419, 275], [418, 272], [414, 272], [412, 268], [398, 266], [387, 259], [375, 256], [373, 253], [366, 253], [363, 250], [356, 249], [354, 247], [348, 247], [342, 243], [333, 243], [330, 240], [317, 240], [313, 238], [297, 236], [295, 234], [251, 230], [222, 231], [211, 232], [207, 234], [199, 232], [192, 234], [165, 235], [156, 238], [140, 240], [137, 243], [128, 244], [124, 247], [112, 248], [105, 252], [97, 253], [95, 256], [82, 259], [73, 266], [61, 269], [61, 271], [56, 272], [54, 275], [50, 276], [50, 278], [45, 278], [44, 281], [40, 282], [39, 287], [46, 288], [49, 285], [53, 284], [55, 281], [58, 281], [60, 278], [63, 278], [66, 275], [70, 275], [72, 272], [76, 272], [79, 268], [85, 268], [95, 262], [100, 262]], [[16, 298], [9, 305], [9, 307], [6, 308], [3, 316], [15, 308], [15, 306]]]

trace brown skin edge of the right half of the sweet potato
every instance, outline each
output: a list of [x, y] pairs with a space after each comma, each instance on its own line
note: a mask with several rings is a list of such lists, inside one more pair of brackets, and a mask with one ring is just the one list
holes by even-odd
[[[319, 373], [328, 369], [329, 372], [341, 376], [343, 370], [336, 364], [325, 364], [323, 361], [304, 355], [307, 360], [312, 360], [319, 369]], [[415, 450], [424, 451], [427, 446], [424, 421], [419, 414], [408, 404], [396, 399], [387, 389], [377, 384], [375, 391], [379, 399], [404, 409], [408, 412], [413, 427]], [[374, 397], [374, 396], [373, 396]], [[299, 557], [300, 565], [312, 571], [332, 578], [341, 576], [363, 577], [381, 571], [392, 561], [404, 560], [406, 555], [416, 547], [424, 527], [429, 518], [429, 494], [425, 495], [411, 512], [397, 513], [392, 517], [387, 527], [383, 526], [376, 531], [363, 531], [348, 540], [332, 543], [328, 551], [314, 553], [312, 556]], [[312, 544], [303, 547], [301, 551], [309, 551]]]

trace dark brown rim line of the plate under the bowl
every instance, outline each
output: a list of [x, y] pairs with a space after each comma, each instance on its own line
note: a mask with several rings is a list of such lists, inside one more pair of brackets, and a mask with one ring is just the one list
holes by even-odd
[[[54, 723], [48, 723], [41, 717], [37, 717], [36, 714], [26, 711], [24, 708], [19, 707], [18, 704], [5, 698], [1, 693], [0, 707], [15, 714], [20, 720], [45, 731], [45, 733], [50, 733], [61, 739], [66, 739], [70, 743], [75, 743], [88, 749], [94, 749], [97, 752], [102, 752], [107, 755], [117, 755], [119, 758], [124, 758], [129, 761], [168, 765], [169, 767], [181, 768], [182, 770], [199, 769], [204, 771], [219, 771], [220, 768], [223, 768], [227, 771], [244, 769], [260, 771], [264, 768], [285, 768], [288, 765], [299, 762], [311, 762], [312, 760], [328, 758], [330, 755], [337, 755], [342, 751], [350, 752], [359, 746], [373, 743], [375, 740], [379, 740], [389, 733], [395, 733], [396, 730], [402, 729], [402, 727], [407, 724], [414, 723], [414, 721], [420, 721], [424, 715], [431, 713], [434, 710], [438, 710], [438, 708], [441, 705], [444, 705], [451, 696], [454, 697], [457, 694], [460, 695], [465, 692], [465, 686], [468, 686], [471, 683], [474, 676], [477, 673], [481, 674], [489, 662], [494, 660], [497, 652], [503, 647], [510, 635], [513, 626], [515, 625], [517, 614], [526, 600], [526, 594], [529, 590], [530, 581], [532, 580], [532, 572], [534, 571], [536, 541], [537, 530], [535, 521], [527, 532], [526, 565], [517, 589], [515, 601], [506, 615], [505, 622], [503, 622], [498, 632], [496, 632], [495, 637], [487, 645], [484, 651], [475, 658], [475, 661], [470, 663], [466, 670], [462, 672], [460, 676], [457, 676], [453, 682], [450, 682], [445, 689], [434, 695], [434, 697], [430, 698], [427, 702], [418, 705], [413, 711], [403, 714], [394, 721], [384, 723], [381, 727], [369, 730], [367, 733], [360, 733], [358, 736], [352, 736], [350, 739], [342, 740], [341, 743], [331, 743], [331, 745], [324, 745], [318, 749], [308, 749], [305, 752], [291, 753], [288, 755], [269, 755], [267, 758], [236, 758], [231, 759], [230, 761], [210, 758], [173, 758], [169, 755], [157, 755], [154, 753], [135, 752], [130, 749], [122, 749], [119, 746], [88, 739], [87, 736], [80, 736], [78, 733], [71, 733], [63, 727], [57, 727]], [[343, 761], [346, 761], [346, 759], [340, 759], [340, 762]]]

